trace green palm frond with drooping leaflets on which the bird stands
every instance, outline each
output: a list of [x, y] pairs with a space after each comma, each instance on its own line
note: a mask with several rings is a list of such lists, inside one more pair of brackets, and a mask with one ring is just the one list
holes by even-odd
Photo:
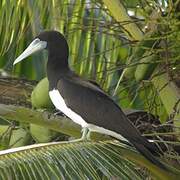
[[152, 165], [119, 142], [75, 140], [1, 151], [0, 179], [145, 179], [129, 160], [148, 167], [157, 179], [178, 176]]

